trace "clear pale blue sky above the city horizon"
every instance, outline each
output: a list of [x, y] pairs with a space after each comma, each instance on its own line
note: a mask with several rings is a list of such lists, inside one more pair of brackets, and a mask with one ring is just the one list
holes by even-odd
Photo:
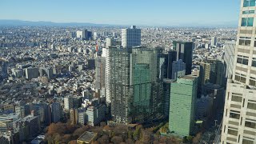
[[0, 19], [118, 25], [236, 25], [240, 0], [0, 0]]

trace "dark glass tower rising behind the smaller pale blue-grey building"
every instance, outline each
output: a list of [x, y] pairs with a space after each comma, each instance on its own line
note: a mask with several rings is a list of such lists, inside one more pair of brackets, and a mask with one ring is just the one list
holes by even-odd
[[177, 51], [177, 60], [182, 59], [186, 63], [186, 75], [191, 74], [194, 43], [174, 41], [173, 46]]

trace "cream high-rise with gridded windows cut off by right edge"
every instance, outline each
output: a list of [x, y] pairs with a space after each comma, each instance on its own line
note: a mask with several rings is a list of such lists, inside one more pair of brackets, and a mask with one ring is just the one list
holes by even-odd
[[242, 0], [234, 70], [226, 86], [222, 142], [256, 143], [256, 5]]

